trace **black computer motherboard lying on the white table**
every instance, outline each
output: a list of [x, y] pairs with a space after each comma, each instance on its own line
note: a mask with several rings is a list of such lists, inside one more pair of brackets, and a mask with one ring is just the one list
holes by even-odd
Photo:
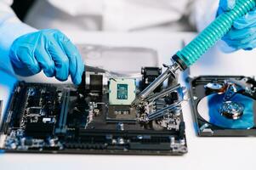
[[[131, 103], [162, 73], [141, 77], [84, 72], [79, 86], [18, 82], [1, 125], [5, 152], [183, 155], [185, 88], [168, 82], [141, 105]], [[160, 93], [161, 92], [161, 93]]]

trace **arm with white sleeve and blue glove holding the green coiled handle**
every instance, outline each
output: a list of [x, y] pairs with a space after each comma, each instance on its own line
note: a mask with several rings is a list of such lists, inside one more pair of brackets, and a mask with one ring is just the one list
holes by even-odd
[[[202, 31], [219, 14], [229, 11], [236, 0], [196, 0], [191, 3], [190, 20], [197, 31]], [[251, 50], [256, 47], [256, 8], [234, 21], [230, 31], [219, 42], [222, 51], [229, 53], [239, 49]]]

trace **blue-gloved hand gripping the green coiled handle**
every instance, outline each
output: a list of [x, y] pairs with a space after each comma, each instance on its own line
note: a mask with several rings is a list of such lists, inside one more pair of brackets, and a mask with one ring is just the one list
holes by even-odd
[[[236, 5], [236, 0], [220, 0], [218, 15], [229, 11]], [[256, 8], [234, 21], [231, 30], [222, 38], [229, 46], [223, 47], [225, 52], [238, 49], [251, 50], [256, 47]]]

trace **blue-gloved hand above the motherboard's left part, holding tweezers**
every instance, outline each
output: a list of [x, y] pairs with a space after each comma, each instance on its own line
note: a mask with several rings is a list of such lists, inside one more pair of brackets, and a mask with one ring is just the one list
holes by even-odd
[[82, 81], [84, 65], [74, 44], [58, 30], [42, 30], [15, 39], [9, 51], [14, 71], [31, 76], [43, 70], [47, 77]]

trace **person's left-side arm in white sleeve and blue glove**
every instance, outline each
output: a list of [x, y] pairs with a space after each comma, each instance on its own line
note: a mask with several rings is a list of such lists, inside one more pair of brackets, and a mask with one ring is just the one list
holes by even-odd
[[0, 1], [0, 53], [6, 63], [10, 59], [14, 72], [20, 76], [43, 70], [47, 77], [65, 81], [71, 75], [75, 84], [81, 82], [84, 65], [69, 38], [58, 30], [37, 31], [27, 26], [5, 1]]

